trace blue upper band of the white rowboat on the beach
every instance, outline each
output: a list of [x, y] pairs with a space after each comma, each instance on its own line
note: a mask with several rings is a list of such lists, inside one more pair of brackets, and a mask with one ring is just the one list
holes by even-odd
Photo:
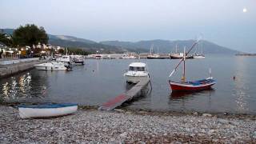
[[31, 108], [31, 109], [53, 109], [69, 106], [78, 106], [77, 103], [62, 103], [62, 104], [44, 104], [44, 105], [19, 105], [18, 108]]

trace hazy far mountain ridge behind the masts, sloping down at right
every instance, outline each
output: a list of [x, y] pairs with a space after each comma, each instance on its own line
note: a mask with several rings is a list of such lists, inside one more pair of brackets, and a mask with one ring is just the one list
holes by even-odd
[[[169, 40], [150, 40], [150, 41], [139, 41], [139, 42], [120, 42], [120, 41], [105, 41], [100, 42], [105, 45], [110, 46], [121, 46], [127, 50], [130, 49], [143, 49], [147, 52], [150, 51], [150, 46], [154, 46], [154, 52], [159, 53], [170, 53], [175, 51], [176, 45], [178, 46], [178, 51], [182, 52], [183, 47], [186, 46], [188, 49], [192, 46], [194, 40], [176, 40], [176, 41], [169, 41]], [[204, 54], [238, 54], [237, 50], [231, 50], [229, 48], [218, 46], [213, 42], [208, 42], [202, 40], [199, 42], [200, 49], [202, 47], [202, 51]]]

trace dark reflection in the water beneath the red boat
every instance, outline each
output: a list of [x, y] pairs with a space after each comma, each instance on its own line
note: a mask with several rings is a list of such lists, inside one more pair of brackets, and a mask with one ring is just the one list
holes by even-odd
[[193, 98], [196, 95], [212, 95], [214, 94], [214, 89], [209, 90], [198, 90], [198, 91], [172, 91], [170, 94], [170, 100], [180, 100], [186, 98]]

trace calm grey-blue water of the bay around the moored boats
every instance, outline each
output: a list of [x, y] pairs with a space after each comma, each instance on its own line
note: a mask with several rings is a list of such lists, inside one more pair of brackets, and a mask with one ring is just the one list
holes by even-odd
[[[212, 76], [217, 80], [213, 90], [192, 94], [172, 93], [167, 82], [168, 75], [178, 60], [86, 59], [85, 66], [74, 66], [71, 71], [34, 69], [11, 78], [2, 78], [0, 101], [78, 102], [81, 105], [99, 106], [130, 89], [123, 77], [130, 62], [147, 63], [152, 91], [131, 102], [128, 108], [256, 114], [256, 57], [217, 55], [186, 61], [188, 80], [209, 77], [211, 68]], [[180, 78], [181, 71], [172, 77], [174, 80]]]

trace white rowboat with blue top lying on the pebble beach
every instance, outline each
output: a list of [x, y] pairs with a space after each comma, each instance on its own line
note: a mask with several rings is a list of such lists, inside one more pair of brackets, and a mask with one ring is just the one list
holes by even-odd
[[66, 114], [73, 114], [78, 110], [78, 104], [46, 104], [46, 105], [20, 105], [18, 106], [21, 118], [50, 118]]

